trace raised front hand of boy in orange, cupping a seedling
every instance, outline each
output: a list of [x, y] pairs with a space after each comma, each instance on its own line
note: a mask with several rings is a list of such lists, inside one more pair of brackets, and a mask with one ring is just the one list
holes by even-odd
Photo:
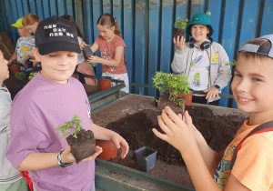
[[161, 134], [153, 128], [154, 134], [177, 148], [182, 155], [190, 151], [191, 146], [197, 146], [195, 127], [187, 111], [185, 112], [185, 121], [183, 121], [167, 106], [157, 119], [158, 125], [166, 134]]

